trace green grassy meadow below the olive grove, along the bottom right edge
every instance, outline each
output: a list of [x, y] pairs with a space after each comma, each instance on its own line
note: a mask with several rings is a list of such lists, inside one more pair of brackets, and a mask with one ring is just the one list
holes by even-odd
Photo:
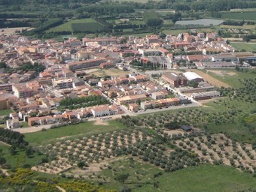
[[[163, 172], [149, 163], [131, 160], [128, 157], [114, 161], [110, 163], [110, 166], [111, 169], [104, 169], [97, 175], [108, 178], [110, 181], [104, 187], [117, 191], [122, 190], [124, 186], [135, 192], [230, 192], [250, 187], [256, 189], [256, 178], [231, 166], [203, 164], [175, 172]], [[129, 177], [123, 184], [114, 179], [117, 175], [126, 173], [129, 174]], [[158, 176], [154, 177], [155, 174]], [[158, 188], [155, 187], [157, 183]]]

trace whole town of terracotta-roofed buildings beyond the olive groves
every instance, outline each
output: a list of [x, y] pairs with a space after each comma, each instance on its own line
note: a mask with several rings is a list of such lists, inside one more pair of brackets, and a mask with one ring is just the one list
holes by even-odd
[[250, 68], [256, 61], [254, 53], [236, 52], [215, 32], [193, 34], [62, 42], [2, 34], [0, 108], [14, 111], [6, 127], [200, 106], [221, 95], [194, 69]]

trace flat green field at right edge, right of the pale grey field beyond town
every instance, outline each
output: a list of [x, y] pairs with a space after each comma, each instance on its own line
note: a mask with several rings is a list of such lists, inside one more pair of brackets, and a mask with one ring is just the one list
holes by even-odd
[[256, 20], [256, 11], [240, 13], [222, 13], [221, 18], [230, 20]]

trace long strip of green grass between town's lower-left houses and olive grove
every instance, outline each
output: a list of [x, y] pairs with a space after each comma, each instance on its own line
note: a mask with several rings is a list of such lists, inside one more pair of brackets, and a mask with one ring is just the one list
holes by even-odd
[[106, 133], [109, 131], [126, 128], [123, 124], [117, 121], [108, 121], [109, 125], [95, 125], [94, 121], [87, 121], [81, 124], [58, 127], [35, 133], [25, 133], [25, 139], [29, 143], [39, 145], [47, 142], [56, 142], [58, 138], [64, 137], [80, 137], [96, 133]]

